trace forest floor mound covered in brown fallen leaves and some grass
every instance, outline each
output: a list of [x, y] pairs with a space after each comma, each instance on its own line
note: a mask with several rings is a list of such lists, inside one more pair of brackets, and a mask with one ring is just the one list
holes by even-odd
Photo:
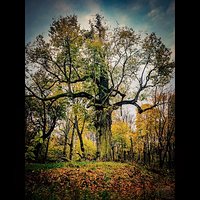
[[136, 163], [67, 162], [28, 164], [25, 199], [175, 199], [175, 174]]

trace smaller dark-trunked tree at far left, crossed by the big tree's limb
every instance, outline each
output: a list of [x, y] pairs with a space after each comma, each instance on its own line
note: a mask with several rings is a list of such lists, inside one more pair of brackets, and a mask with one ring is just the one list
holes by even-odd
[[[48, 80], [45, 71], [38, 71], [34, 75], [29, 75], [32, 77], [33, 82], [31, 82], [29, 87], [26, 87], [28, 90], [31, 88], [32, 92], [34, 91], [35, 94], [41, 95], [43, 98], [49, 93], [56, 94], [57, 91], [54, 91], [54, 85]], [[28, 91], [26, 90], [26, 93], [27, 92]], [[27, 147], [31, 147], [30, 141], [34, 143], [33, 152], [37, 162], [46, 161], [49, 139], [56, 127], [57, 121], [62, 119], [65, 115], [66, 104], [67, 102], [63, 100], [44, 101], [33, 97], [26, 98], [26, 124], [34, 127], [29, 130], [26, 128], [26, 138], [29, 138]], [[36, 141], [34, 140], [35, 137]], [[43, 146], [46, 146], [46, 148], [42, 151]]]

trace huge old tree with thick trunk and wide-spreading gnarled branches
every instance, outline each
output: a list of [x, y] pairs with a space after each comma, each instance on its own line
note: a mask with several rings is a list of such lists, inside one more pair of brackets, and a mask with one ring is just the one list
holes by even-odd
[[[95, 113], [96, 159], [111, 160], [112, 112], [125, 104], [136, 106], [139, 113], [157, 106], [155, 101], [142, 109], [139, 100], [170, 81], [175, 63], [155, 33], [111, 30], [98, 14], [89, 25], [84, 30], [75, 15], [60, 17], [53, 20], [49, 39], [39, 35], [26, 45], [26, 98], [51, 103], [84, 99]], [[45, 81], [33, 84], [36, 73]]]

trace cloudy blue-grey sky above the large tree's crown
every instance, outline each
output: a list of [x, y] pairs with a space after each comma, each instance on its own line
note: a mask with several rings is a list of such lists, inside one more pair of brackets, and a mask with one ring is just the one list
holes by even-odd
[[99, 13], [112, 27], [155, 32], [168, 48], [175, 46], [174, 0], [25, 0], [25, 42], [48, 34], [52, 18], [75, 14], [83, 28]]

